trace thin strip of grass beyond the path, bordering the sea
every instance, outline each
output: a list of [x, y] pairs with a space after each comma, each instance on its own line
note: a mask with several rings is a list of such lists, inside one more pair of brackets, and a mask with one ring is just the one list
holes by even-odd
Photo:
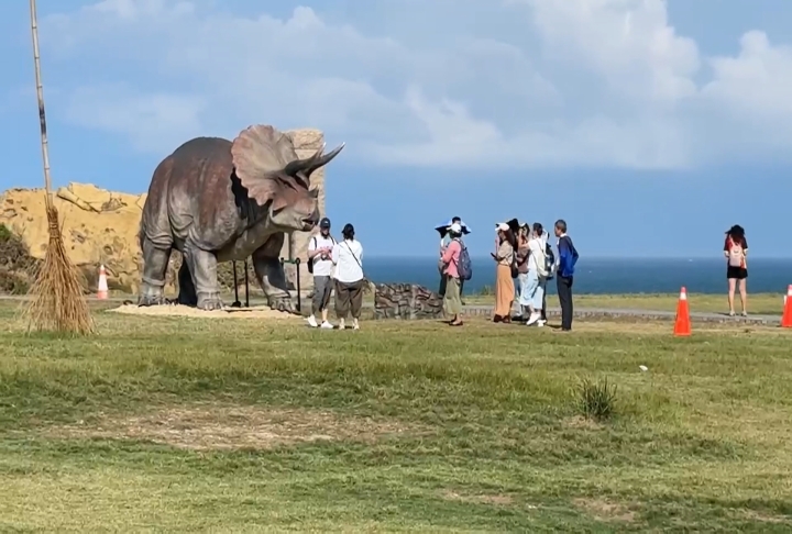
[[[755, 315], [781, 315], [784, 293], [748, 293], [748, 313]], [[466, 304], [494, 304], [494, 296], [465, 294]], [[574, 303], [580, 308], [613, 308], [628, 310], [675, 311], [679, 293], [674, 294], [575, 294]], [[728, 312], [726, 294], [688, 293], [692, 312]], [[556, 285], [551, 282], [548, 305], [558, 307]], [[735, 296], [735, 311], [740, 311], [739, 296]]]

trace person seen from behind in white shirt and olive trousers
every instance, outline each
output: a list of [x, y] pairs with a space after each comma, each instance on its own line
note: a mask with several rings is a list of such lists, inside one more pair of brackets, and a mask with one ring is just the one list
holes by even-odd
[[354, 226], [346, 223], [341, 231], [343, 241], [332, 249], [332, 262], [336, 266], [336, 314], [339, 318], [339, 330], [344, 329], [346, 316], [352, 313], [354, 330], [360, 329], [361, 308], [363, 307], [363, 245], [354, 238]]

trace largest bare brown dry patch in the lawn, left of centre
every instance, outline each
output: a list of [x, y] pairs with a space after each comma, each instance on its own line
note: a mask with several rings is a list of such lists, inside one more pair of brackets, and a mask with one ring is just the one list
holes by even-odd
[[374, 442], [417, 429], [327, 411], [255, 407], [170, 407], [147, 415], [55, 426], [48, 437], [145, 440], [191, 450], [267, 449], [319, 441]]

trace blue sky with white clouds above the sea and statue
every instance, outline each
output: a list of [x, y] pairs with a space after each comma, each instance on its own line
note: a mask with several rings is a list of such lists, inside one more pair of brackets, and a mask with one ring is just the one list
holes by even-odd
[[[143, 192], [199, 135], [345, 141], [328, 214], [432, 255], [461, 214], [586, 256], [792, 256], [792, 2], [40, 0], [53, 179]], [[43, 183], [26, 2], [0, 7], [0, 188]]]

